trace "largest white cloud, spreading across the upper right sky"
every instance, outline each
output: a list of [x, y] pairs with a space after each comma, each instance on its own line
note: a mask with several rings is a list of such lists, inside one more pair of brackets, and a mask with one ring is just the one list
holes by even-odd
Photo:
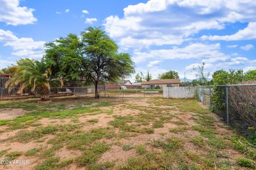
[[254, 0], [151, 0], [127, 6], [123, 18], [108, 16], [103, 25], [124, 49], [180, 45], [204, 29], [223, 29], [226, 23], [253, 23], [255, 8]]

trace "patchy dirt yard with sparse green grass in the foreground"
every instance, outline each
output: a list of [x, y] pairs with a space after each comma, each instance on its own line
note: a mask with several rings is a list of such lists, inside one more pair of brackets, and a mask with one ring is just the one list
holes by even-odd
[[195, 99], [62, 97], [0, 106], [0, 169], [254, 168], [239, 163], [253, 158], [234, 147], [234, 131]]

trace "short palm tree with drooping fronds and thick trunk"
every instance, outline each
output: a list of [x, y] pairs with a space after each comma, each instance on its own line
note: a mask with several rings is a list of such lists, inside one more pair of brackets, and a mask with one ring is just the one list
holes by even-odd
[[[17, 85], [19, 85], [18, 94], [23, 93], [25, 88], [31, 88], [34, 92], [39, 88], [42, 92], [41, 101], [47, 101], [50, 98], [50, 78], [51, 69], [47, 67], [44, 61], [30, 60], [29, 58], [20, 59], [18, 62], [18, 70], [13, 75], [13, 78], [6, 82], [6, 87], [10, 86], [9, 92]], [[63, 84], [60, 79], [61, 86]]]

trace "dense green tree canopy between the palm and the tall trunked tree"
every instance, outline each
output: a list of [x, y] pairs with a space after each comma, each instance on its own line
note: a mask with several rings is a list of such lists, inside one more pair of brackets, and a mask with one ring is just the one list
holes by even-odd
[[77, 35], [69, 34], [53, 42], [45, 44], [44, 60], [51, 66], [52, 77], [62, 77], [71, 83], [79, 82], [83, 78], [84, 44]]

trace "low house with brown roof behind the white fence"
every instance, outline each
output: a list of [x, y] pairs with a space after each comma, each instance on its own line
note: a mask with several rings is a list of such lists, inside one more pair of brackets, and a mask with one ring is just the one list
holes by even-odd
[[142, 88], [150, 88], [155, 89], [159, 86], [159, 88], [163, 87], [179, 87], [180, 79], [163, 79], [163, 80], [150, 80], [144, 81], [141, 83]]

